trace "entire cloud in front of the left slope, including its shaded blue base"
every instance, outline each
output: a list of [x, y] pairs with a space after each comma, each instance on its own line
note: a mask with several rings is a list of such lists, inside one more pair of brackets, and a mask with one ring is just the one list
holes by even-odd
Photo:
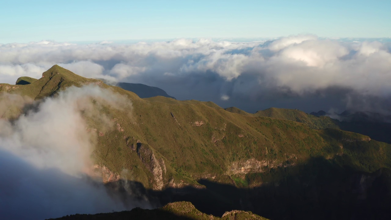
[[99, 130], [113, 128], [99, 109], [109, 105], [128, 111], [129, 100], [96, 86], [70, 87], [40, 103], [2, 94], [0, 106], [10, 100], [30, 110], [12, 122], [0, 118], [0, 218], [45, 219], [149, 207], [147, 201], [136, 200], [125, 205], [101, 180], [93, 180], [91, 153], [97, 135], [88, 120], [100, 119], [95, 123]]

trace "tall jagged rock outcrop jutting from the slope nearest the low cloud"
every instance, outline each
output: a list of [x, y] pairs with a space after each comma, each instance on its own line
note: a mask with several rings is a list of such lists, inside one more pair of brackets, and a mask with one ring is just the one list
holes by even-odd
[[137, 150], [138, 157], [140, 157], [140, 160], [147, 167], [147, 169], [152, 173], [152, 177], [153, 177], [152, 188], [155, 190], [161, 190], [164, 186], [163, 169], [166, 171], [164, 162], [162, 163], [163, 169], [161, 169], [159, 160], [156, 159], [153, 150], [146, 144], [137, 143], [136, 150]]

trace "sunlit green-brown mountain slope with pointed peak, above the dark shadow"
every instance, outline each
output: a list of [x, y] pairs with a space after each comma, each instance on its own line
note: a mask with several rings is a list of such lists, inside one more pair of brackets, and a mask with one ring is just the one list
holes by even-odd
[[[361, 170], [371, 172], [389, 166], [387, 144], [371, 141], [357, 133], [313, 130], [307, 125], [315, 124], [308, 120], [312, 115], [307, 117], [298, 110], [292, 114], [291, 110], [271, 108], [255, 115], [273, 118], [252, 117], [228, 112], [210, 102], [178, 101], [167, 97], [140, 99], [132, 92], [108, 86], [97, 79], [83, 78], [57, 65], [34, 83], [3, 84], [0, 89], [40, 99], [54, 96], [71, 85], [91, 83], [126, 94], [133, 101], [131, 116], [119, 110], [110, 111], [110, 117], [121, 129], [98, 138], [94, 153], [97, 163], [115, 173], [128, 169], [135, 180], [145, 186], [164, 188], [170, 182], [197, 184], [199, 178], [262, 172], [266, 167], [304, 163], [311, 157], [334, 158], [342, 153], [351, 155], [353, 161], [362, 160], [354, 152], [341, 148], [351, 142], [359, 142], [369, 149], [377, 146], [384, 152], [377, 155], [378, 166], [368, 169], [368, 164], [362, 164]], [[306, 124], [284, 120], [294, 118]], [[151, 155], [154, 160], [143, 160]], [[166, 172], [156, 177], [146, 163], [165, 166]], [[252, 165], [247, 168], [248, 164], [256, 168]]]

